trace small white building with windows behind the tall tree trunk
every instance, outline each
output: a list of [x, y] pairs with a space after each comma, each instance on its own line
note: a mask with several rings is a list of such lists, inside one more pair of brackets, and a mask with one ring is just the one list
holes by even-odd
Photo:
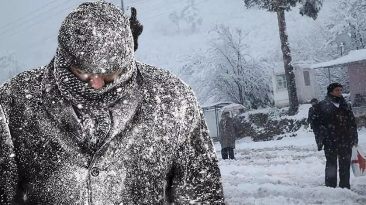
[[[318, 98], [317, 83], [312, 63], [293, 62], [295, 73], [296, 90], [300, 103], [307, 103], [312, 98]], [[287, 82], [283, 64], [273, 69], [272, 73], [273, 96], [276, 107], [287, 107], [290, 105], [288, 100]]]

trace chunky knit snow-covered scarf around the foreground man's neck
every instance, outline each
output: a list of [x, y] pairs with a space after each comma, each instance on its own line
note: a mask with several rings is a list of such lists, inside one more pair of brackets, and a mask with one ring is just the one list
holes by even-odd
[[134, 84], [137, 68], [135, 61], [122, 74], [101, 89], [94, 89], [71, 73], [71, 63], [60, 50], [55, 56], [55, 78], [64, 98], [75, 108], [85, 129], [85, 142], [90, 151], [96, 151], [111, 129], [108, 107], [122, 98]]

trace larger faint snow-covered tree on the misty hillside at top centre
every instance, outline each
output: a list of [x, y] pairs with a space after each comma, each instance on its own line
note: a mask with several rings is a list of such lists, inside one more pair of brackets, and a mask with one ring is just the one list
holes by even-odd
[[202, 24], [203, 18], [198, 7], [195, 5], [195, 0], [190, 0], [188, 5], [180, 12], [180, 18], [185, 20], [192, 27], [192, 32], [196, 31], [198, 25]]

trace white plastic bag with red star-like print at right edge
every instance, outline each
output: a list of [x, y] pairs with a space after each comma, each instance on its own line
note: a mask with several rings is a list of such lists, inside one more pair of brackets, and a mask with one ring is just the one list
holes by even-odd
[[353, 174], [356, 177], [361, 177], [366, 175], [366, 155], [360, 146], [352, 147], [352, 158], [351, 166]]

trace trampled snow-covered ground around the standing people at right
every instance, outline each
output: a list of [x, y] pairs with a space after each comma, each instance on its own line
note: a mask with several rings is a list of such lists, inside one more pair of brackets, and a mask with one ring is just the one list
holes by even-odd
[[[248, 138], [236, 142], [236, 160], [222, 160], [215, 144], [224, 194], [229, 205], [365, 205], [366, 177], [355, 178], [351, 190], [324, 185], [324, 151], [316, 150], [312, 132], [268, 142]], [[359, 131], [366, 148], [366, 129]]]

